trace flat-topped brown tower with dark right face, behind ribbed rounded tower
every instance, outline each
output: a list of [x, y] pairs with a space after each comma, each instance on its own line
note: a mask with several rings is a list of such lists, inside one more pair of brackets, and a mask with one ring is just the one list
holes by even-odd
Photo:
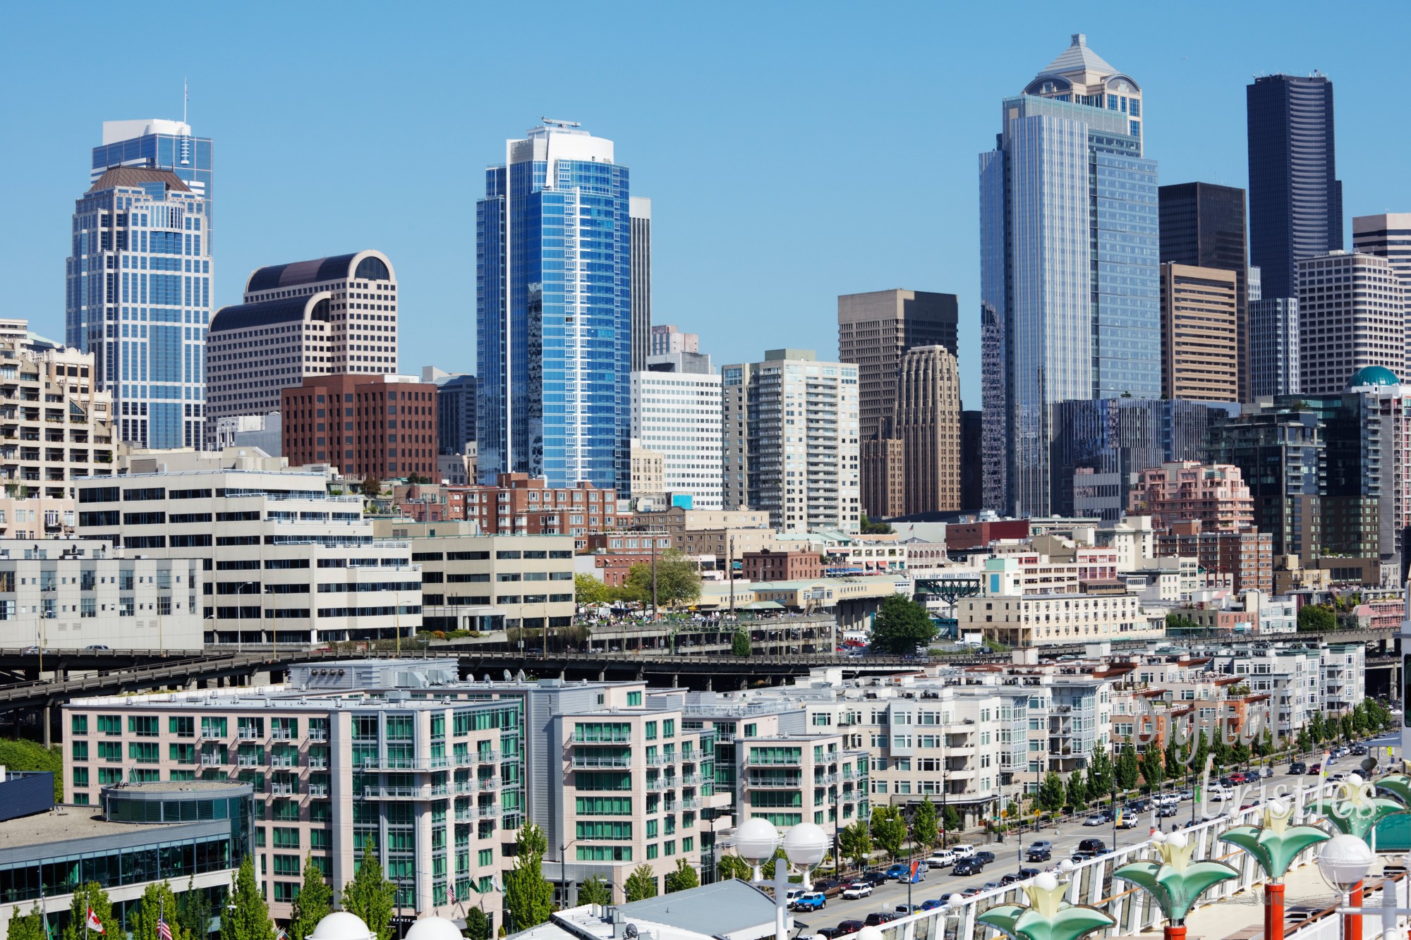
[[[858, 429], [864, 442], [899, 439], [895, 432], [902, 356], [919, 346], [957, 353], [957, 299], [931, 291], [872, 291], [838, 298], [838, 360], [858, 367]], [[900, 515], [897, 493], [904, 449], [871, 446], [862, 466], [864, 511]], [[904, 459], [904, 457], [902, 457]]]

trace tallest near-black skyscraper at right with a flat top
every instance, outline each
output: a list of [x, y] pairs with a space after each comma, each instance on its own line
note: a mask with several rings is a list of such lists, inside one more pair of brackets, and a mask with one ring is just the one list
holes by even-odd
[[1264, 296], [1298, 296], [1300, 258], [1342, 248], [1342, 182], [1326, 75], [1266, 75], [1249, 107], [1249, 261]]

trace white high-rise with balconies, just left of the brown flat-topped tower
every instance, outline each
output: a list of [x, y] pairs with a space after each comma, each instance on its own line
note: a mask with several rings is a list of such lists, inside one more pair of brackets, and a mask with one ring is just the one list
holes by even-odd
[[725, 508], [762, 510], [782, 532], [856, 532], [858, 367], [775, 349], [721, 378]]

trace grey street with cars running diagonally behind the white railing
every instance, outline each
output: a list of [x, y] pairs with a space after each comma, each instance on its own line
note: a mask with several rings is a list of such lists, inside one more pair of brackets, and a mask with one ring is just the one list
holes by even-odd
[[[1366, 742], [1369, 747], [1400, 747], [1400, 735], [1388, 734], [1379, 737], [1376, 740]], [[1314, 758], [1316, 759], [1316, 758]], [[1360, 757], [1345, 755], [1343, 758], [1333, 761], [1331, 768], [1332, 772], [1352, 773], [1359, 769]], [[1311, 764], [1312, 761], [1309, 761]], [[1386, 766], [1386, 759], [1383, 758], [1383, 766]], [[1284, 785], [1285, 788], [1308, 786], [1315, 782], [1316, 778], [1312, 776], [1290, 776], [1284, 773], [1287, 771], [1287, 764], [1280, 764], [1276, 766], [1274, 776], [1261, 781], [1267, 796], [1274, 796], [1274, 788], [1277, 785]], [[1168, 788], [1170, 789], [1170, 788]], [[1184, 781], [1181, 786], [1174, 789], [1184, 789]], [[1245, 803], [1253, 802], [1260, 797], [1259, 785], [1250, 788], [1250, 790], [1242, 797]], [[1041, 831], [1034, 833], [1029, 830], [1023, 833], [1022, 844], [1027, 847], [1034, 840], [1046, 838], [1054, 844], [1053, 862], [1061, 858], [1068, 858], [1078, 848], [1078, 843], [1084, 838], [1096, 837], [1101, 838], [1110, 848], [1113, 845], [1132, 845], [1134, 843], [1143, 843], [1150, 834], [1150, 828], [1156, 821], [1161, 821], [1170, 830], [1171, 823], [1187, 823], [1191, 820], [1194, 800], [1182, 800], [1180, 812], [1175, 817], [1154, 820], [1151, 813], [1143, 813], [1141, 821], [1137, 828], [1119, 830], [1116, 833], [1116, 841], [1113, 841], [1112, 823], [1105, 823], [1103, 826], [1082, 826], [1079, 820], [1065, 821], [1053, 828], [1046, 826]], [[1219, 813], [1221, 805], [1211, 803], [1211, 816]], [[1202, 819], [1202, 809], [1199, 806], [1194, 807], [1195, 819]], [[998, 882], [1000, 876], [1019, 871], [1020, 867], [1029, 868], [1047, 868], [1048, 864], [1029, 864], [1023, 865], [1019, 862], [1017, 850], [1019, 845], [1015, 843], [1013, 836], [1006, 836], [1003, 843], [988, 843], [981, 844], [983, 840], [974, 838], [971, 836], [962, 836], [961, 841], [978, 845], [979, 848], [995, 852], [995, 861], [985, 867], [985, 871], [979, 875], [971, 875], [967, 878], [957, 878], [951, 874], [950, 868], [933, 868], [926, 874], [926, 881], [917, 885], [910, 885], [912, 899], [910, 903], [919, 905], [923, 900], [933, 898], [944, 899], [958, 891], [964, 891], [971, 886], [981, 886], [985, 882]], [[954, 844], [954, 843], [951, 843]], [[907, 885], [897, 882], [888, 882], [879, 885], [872, 891], [871, 898], [862, 898], [859, 900], [844, 900], [840, 898], [830, 898], [827, 908], [823, 910], [809, 910], [794, 913], [794, 927], [796, 933], [801, 924], [807, 924], [807, 930], [803, 930], [803, 936], [810, 936], [823, 927], [834, 927], [840, 920], [862, 920], [873, 910], [893, 910], [897, 905], [907, 903]]]

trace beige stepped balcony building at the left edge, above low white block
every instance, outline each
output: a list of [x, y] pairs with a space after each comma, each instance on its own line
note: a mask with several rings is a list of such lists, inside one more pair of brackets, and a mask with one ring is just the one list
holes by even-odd
[[0, 336], [0, 483], [17, 497], [69, 500], [72, 480], [113, 473], [113, 397], [93, 354], [34, 336]]

